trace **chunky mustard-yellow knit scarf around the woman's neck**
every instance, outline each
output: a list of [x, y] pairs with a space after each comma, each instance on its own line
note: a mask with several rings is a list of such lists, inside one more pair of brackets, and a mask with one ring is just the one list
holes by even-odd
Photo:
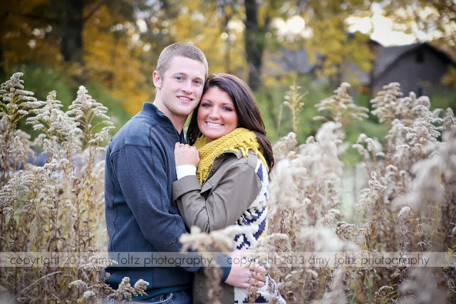
[[207, 138], [203, 135], [197, 139], [195, 147], [197, 147], [199, 151], [199, 164], [197, 167], [199, 184], [202, 184], [204, 180], [206, 180], [215, 157], [227, 151], [238, 152], [238, 150], [241, 150], [242, 156], [247, 157], [249, 150], [252, 150], [258, 155], [264, 163], [264, 166], [266, 166], [266, 169], [269, 171], [266, 159], [264, 159], [264, 156], [260, 151], [257, 136], [254, 132], [244, 127], [238, 127], [227, 135], [217, 138], [217, 140], [212, 140], [212, 142], [209, 143], [207, 143]]

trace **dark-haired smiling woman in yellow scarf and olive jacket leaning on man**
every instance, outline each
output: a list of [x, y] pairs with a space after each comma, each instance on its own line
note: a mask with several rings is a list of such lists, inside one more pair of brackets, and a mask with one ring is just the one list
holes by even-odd
[[[229, 74], [207, 79], [187, 131], [190, 145], [175, 145], [177, 181], [172, 199], [187, 226], [210, 232], [229, 225], [254, 227], [236, 236], [234, 249], [247, 249], [266, 235], [271, 143], [249, 86]], [[204, 276], [195, 274], [194, 303], [207, 303]], [[247, 289], [222, 283], [222, 303], [248, 303]], [[266, 278], [257, 303], [284, 303]], [[245, 302], [247, 301], [247, 302]]]

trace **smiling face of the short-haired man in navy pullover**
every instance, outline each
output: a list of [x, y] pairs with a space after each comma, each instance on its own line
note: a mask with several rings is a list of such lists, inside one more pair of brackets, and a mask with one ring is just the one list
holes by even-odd
[[157, 88], [155, 105], [174, 123], [184, 120], [201, 99], [206, 69], [204, 64], [186, 57], [176, 56], [164, 75], [153, 74]]

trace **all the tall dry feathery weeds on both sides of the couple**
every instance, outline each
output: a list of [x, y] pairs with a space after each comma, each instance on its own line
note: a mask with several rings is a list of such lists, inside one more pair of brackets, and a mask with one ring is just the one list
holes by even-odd
[[[306, 110], [298, 88], [290, 92], [289, 108], [297, 114]], [[63, 112], [55, 92], [38, 101], [24, 90], [21, 73], [1, 85], [0, 98], [0, 253], [96, 256], [107, 238], [102, 146], [112, 127], [107, 109], [81, 87]], [[276, 142], [269, 234], [252, 256], [285, 262], [267, 267], [289, 303], [455, 303], [455, 117], [451, 110], [430, 112], [426, 97], [403, 97], [397, 83], [385, 86], [371, 105], [371, 115], [388, 125], [388, 135], [384, 140], [361, 135], [354, 145], [368, 177], [359, 201], [342, 199], [345, 165], [340, 157], [348, 148], [344, 128], [365, 119], [368, 110], [353, 103], [348, 84], [316, 105], [317, 118], [328, 121], [315, 137], [298, 145], [290, 133]], [[19, 120], [39, 135], [32, 138], [20, 130]], [[42, 167], [28, 161], [36, 150], [47, 156]], [[356, 206], [357, 214], [344, 214], [343, 204]], [[233, 235], [241, 232], [232, 227], [207, 236], [195, 230], [182, 241], [203, 252], [227, 251]], [[453, 260], [438, 268], [353, 263], [304, 268], [284, 260], [328, 252], [347, 258], [360, 252], [449, 252]], [[2, 267], [1, 300], [98, 303], [107, 295], [128, 300], [147, 285], [132, 286], [125, 278], [112, 290], [99, 277], [109, 261], [90, 261], [80, 261], [80, 267]], [[219, 277], [215, 268], [208, 273]], [[217, 284], [209, 288], [217, 290]]]

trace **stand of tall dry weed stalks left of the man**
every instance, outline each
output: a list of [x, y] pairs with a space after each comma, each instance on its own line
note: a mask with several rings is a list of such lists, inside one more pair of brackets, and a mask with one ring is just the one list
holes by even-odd
[[[70, 110], [63, 112], [55, 92], [46, 102], [38, 101], [24, 90], [21, 76], [15, 73], [0, 90], [0, 252], [48, 256], [88, 252], [105, 244], [100, 142], [113, 127], [105, 115], [107, 108], [81, 86]], [[19, 120], [26, 120], [39, 135], [32, 140], [19, 130]], [[28, 161], [35, 151], [46, 157], [42, 167]], [[78, 278], [98, 283], [101, 268], [88, 271], [76, 268], [76, 263], [65, 266], [65, 261], [56, 261], [53, 266], [0, 268], [0, 290], [16, 303], [61, 303], [72, 298], [90, 302], [93, 291], [80, 293], [68, 283]]]

